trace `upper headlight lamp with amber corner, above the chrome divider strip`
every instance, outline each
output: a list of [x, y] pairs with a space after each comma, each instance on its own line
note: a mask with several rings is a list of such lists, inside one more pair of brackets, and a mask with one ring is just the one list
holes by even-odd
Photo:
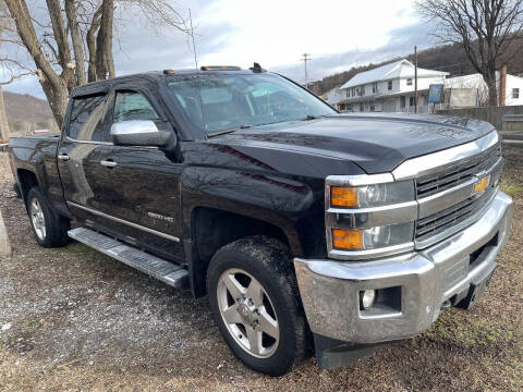
[[330, 186], [330, 205], [367, 208], [414, 200], [414, 182], [399, 181], [363, 186]]

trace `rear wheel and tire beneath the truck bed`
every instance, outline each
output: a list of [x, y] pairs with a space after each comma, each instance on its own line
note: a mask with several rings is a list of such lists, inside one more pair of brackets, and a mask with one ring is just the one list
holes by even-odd
[[51, 208], [38, 186], [32, 187], [27, 193], [27, 213], [36, 241], [41, 246], [58, 247], [69, 242], [69, 219], [60, 217]]

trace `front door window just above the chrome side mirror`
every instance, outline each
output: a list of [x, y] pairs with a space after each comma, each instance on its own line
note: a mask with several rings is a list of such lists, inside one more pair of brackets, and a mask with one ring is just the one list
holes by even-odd
[[113, 123], [130, 120], [158, 121], [158, 114], [149, 101], [139, 93], [117, 93]]

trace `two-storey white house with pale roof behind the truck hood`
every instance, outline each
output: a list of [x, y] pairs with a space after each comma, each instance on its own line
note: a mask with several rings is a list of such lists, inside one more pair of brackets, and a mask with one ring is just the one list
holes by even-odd
[[[428, 87], [443, 83], [448, 72], [417, 69], [418, 110], [427, 112]], [[340, 110], [352, 111], [414, 111], [414, 64], [399, 60], [356, 74], [340, 87], [343, 98]]]

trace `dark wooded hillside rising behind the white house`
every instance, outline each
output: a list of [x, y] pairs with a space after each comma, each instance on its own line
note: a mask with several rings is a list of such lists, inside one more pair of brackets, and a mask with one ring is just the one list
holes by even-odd
[[[514, 47], [514, 52], [508, 53], [507, 66], [509, 73], [519, 75], [523, 73], [523, 51]], [[355, 74], [373, 70], [375, 68], [400, 60], [400, 57], [384, 61], [377, 64], [368, 64], [363, 66], [354, 66], [348, 71], [343, 71], [321, 81], [311, 83], [311, 90], [317, 95], [327, 93], [328, 90], [343, 85]], [[405, 57], [410, 61], [414, 61], [414, 53]], [[422, 50], [417, 53], [417, 65], [419, 68], [449, 72], [450, 76], [460, 76], [476, 73], [472, 68], [464, 49], [459, 45], [438, 46], [430, 49]]]

